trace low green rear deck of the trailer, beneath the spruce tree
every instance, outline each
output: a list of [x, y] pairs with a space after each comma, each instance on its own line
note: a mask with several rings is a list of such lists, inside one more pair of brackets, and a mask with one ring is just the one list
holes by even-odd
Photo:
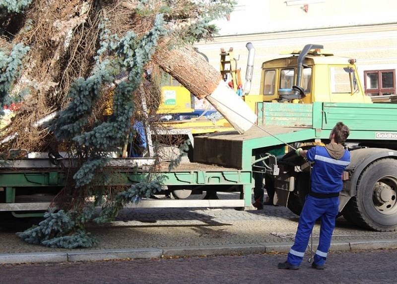
[[[150, 159], [149, 159], [150, 160]], [[68, 159], [59, 160], [68, 163]], [[112, 186], [128, 187], [143, 181], [147, 176], [148, 159], [115, 158], [108, 165], [112, 171]], [[208, 187], [234, 188], [251, 193], [253, 187], [251, 170], [221, 167], [199, 163], [182, 163], [168, 171], [168, 163], [161, 164], [159, 174], [163, 175], [163, 185], [175, 191], [192, 189], [205, 191]], [[15, 217], [42, 215], [50, 207], [51, 200], [66, 185], [66, 173], [49, 159], [31, 158], [8, 161], [1, 165], [0, 172], [0, 212], [11, 212]], [[229, 200], [142, 200], [128, 207], [175, 208], [175, 207], [246, 207], [244, 199]]]

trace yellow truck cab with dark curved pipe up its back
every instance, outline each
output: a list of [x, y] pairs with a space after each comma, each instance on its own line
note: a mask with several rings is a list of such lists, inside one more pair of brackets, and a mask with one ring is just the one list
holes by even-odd
[[321, 45], [262, 64], [263, 101], [371, 103], [364, 94], [355, 60], [321, 53]]

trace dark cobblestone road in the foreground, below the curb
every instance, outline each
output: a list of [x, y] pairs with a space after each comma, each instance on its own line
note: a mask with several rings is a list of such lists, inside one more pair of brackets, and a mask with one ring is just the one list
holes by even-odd
[[396, 250], [330, 253], [325, 270], [276, 268], [285, 254], [2, 265], [0, 283], [396, 283]]

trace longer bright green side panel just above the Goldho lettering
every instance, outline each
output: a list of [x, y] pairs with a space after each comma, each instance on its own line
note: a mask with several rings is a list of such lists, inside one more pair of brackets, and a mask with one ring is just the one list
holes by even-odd
[[397, 105], [324, 103], [323, 129], [343, 122], [351, 131], [396, 131]]

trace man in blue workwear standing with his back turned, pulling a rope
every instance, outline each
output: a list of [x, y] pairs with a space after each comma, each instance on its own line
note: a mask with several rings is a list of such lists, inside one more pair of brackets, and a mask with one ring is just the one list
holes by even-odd
[[310, 150], [296, 150], [296, 154], [314, 162], [311, 189], [299, 218], [295, 243], [288, 253], [287, 261], [278, 264], [279, 269], [299, 269], [309, 243], [314, 223], [321, 218], [320, 242], [312, 268], [324, 269], [331, 245], [335, 218], [339, 212], [339, 192], [342, 190], [342, 173], [350, 162], [350, 153], [342, 143], [349, 136], [349, 128], [338, 122], [331, 131], [331, 142]]

